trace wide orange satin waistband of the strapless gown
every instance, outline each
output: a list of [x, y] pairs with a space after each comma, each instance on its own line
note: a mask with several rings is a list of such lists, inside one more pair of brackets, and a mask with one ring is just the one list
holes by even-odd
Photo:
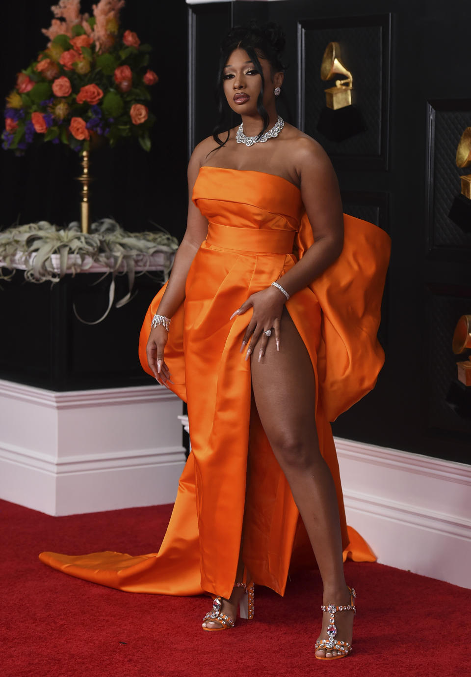
[[291, 254], [294, 230], [261, 230], [220, 225], [209, 221], [206, 242], [224, 249], [262, 254]]

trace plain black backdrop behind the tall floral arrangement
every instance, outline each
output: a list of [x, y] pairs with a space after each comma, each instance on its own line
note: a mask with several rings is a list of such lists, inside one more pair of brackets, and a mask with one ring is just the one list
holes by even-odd
[[[47, 44], [50, 0], [15, 0], [2, 7], [0, 96], [14, 86]], [[91, 12], [82, 0], [82, 12]], [[149, 221], [180, 238], [186, 225], [187, 164], [187, 5], [184, 0], [128, 0], [122, 26], [153, 45], [150, 67], [159, 76], [150, 104], [157, 114], [150, 154], [139, 144], [125, 144], [93, 154], [93, 218], [112, 216], [132, 231], [151, 230]], [[63, 146], [43, 144], [16, 158], [0, 150], [0, 227], [45, 219], [63, 225], [78, 219], [78, 156]]]

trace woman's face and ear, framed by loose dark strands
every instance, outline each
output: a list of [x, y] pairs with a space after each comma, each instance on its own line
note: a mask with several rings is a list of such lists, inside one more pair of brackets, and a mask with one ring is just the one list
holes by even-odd
[[[264, 106], [266, 110], [270, 110], [274, 104], [274, 88], [280, 87], [283, 75], [275, 73], [272, 77], [268, 61], [260, 57], [258, 60], [265, 80]], [[262, 78], [245, 49], [234, 49], [224, 66], [222, 77], [224, 94], [230, 108], [240, 115], [256, 113]]]

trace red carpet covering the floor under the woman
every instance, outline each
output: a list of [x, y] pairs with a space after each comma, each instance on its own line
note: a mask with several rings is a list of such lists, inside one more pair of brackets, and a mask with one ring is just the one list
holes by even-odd
[[[346, 564], [347, 582], [358, 592], [353, 653], [327, 663], [314, 659], [322, 596], [316, 572], [297, 575], [284, 598], [257, 588], [253, 621], [203, 632], [208, 597], [111, 590], [38, 559], [41, 550], [155, 552], [171, 508], [49, 517], [0, 501], [0, 676], [471, 675], [471, 590], [407, 571]], [[438, 645], [441, 636], [447, 642]]]

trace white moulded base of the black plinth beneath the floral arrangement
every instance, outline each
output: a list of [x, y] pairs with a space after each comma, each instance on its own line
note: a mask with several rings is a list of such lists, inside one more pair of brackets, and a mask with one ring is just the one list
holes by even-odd
[[172, 503], [181, 411], [157, 385], [59, 393], [0, 380], [0, 498], [48, 515]]

